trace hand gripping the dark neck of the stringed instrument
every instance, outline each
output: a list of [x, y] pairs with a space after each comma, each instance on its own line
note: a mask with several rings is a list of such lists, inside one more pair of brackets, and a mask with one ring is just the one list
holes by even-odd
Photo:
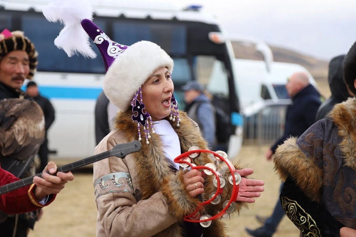
[[[45, 173], [46, 171], [49, 171], [52, 175]], [[74, 176], [71, 172], [58, 172], [57, 175], [53, 175], [56, 173], [56, 171], [57, 165], [50, 161], [43, 171], [44, 173], [42, 174], [42, 178], [37, 176], [33, 178], [33, 183], [36, 185], [34, 189], [34, 196], [37, 201], [42, 200], [50, 194], [58, 194], [61, 189], [65, 187], [65, 184], [68, 181], [72, 181], [74, 179]]]

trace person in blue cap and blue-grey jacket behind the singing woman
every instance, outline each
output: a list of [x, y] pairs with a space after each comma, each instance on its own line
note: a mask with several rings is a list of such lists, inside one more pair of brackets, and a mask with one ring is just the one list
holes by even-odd
[[183, 87], [185, 111], [194, 120], [209, 147], [214, 149], [217, 144], [215, 137], [215, 111], [211, 100], [204, 94], [204, 86], [197, 81], [189, 81]]

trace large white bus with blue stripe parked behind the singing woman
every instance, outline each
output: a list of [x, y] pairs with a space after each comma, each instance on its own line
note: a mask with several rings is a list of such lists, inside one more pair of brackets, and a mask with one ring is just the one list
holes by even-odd
[[[180, 87], [187, 81], [198, 80], [213, 88], [211, 92], [219, 95], [232, 118], [228, 157], [235, 158], [242, 144], [242, 119], [235, 89], [234, 53], [218, 20], [197, 6], [178, 9], [152, 1], [97, 2], [100, 4], [93, 5], [94, 23], [111, 39], [125, 45], [139, 40], [153, 41], [174, 59], [172, 78], [182, 109]], [[57, 49], [53, 41], [63, 26], [46, 20], [42, 9], [47, 4], [48, 1], [0, 0], [0, 31], [4, 28], [24, 31], [38, 51], [33, 80], [56, 111], [48, 133], [49, 148], [54, 151], [50, 158], [81, 159], [93, 155], [96, 145], [94, 107], [105, 68], [95, 46], [96, 59], [68, 58], [64, 51]], [[218, 79], [214, 79], [212, 72], [216, 63], [222, 72]]]

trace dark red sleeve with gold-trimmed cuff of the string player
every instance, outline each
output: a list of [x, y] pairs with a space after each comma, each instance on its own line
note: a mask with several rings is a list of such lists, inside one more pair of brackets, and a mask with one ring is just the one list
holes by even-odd
[[[19, 180], [11, 173], [0, 168], [0, 185], [3, 186]], [[45, 205], [41, 205], [33, 195], [34, 184], [25, 186], [9, 193], [0, 195], [0, 210], [6, 214], [20, 214], [37, 210], [41, 207], [49, 205], [55, 195], [51, 195]]]

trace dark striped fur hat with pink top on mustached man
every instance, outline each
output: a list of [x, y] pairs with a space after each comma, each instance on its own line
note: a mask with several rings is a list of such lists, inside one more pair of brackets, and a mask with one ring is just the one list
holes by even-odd
[[36, 67], [38, 64], [38, 53], [34, 44], [24, 35], [24, 32], [22, 31], [9, 32], [8, 30], [5, 30], [0, 33], [0, 60], [8, 53], [15, 50], [26, 51], [28, 54], [30, 72], [27, 78], [32, 79], [33, 75], [36, 73]]

